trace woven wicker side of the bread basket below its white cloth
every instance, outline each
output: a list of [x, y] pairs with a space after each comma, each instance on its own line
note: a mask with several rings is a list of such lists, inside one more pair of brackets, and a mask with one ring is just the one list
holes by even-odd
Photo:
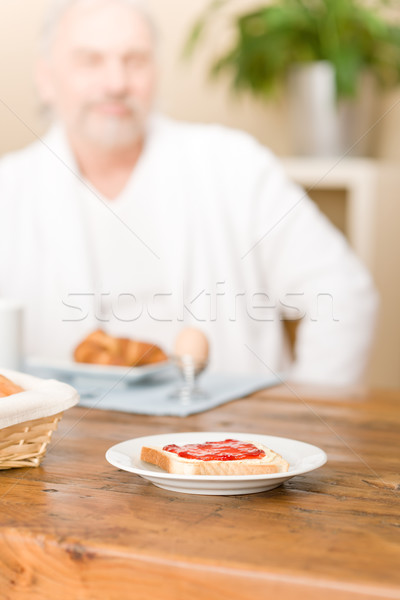
[[63, 413], [0, 429], [0, 470], [38, 467]]

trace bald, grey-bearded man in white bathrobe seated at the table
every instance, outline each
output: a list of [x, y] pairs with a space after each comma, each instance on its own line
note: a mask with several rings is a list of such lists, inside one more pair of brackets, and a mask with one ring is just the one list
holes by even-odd
[[[153, 113], [143, 4], [55, 1], [44, 34], [54, 126], [0, 162], [0, 293], [26, 307], [26, 352], [70, 356], [99, 327], [171, 350], [190, 324], [214, 369], [358, 381], [368, 273], [268, 150]], [[284, 318], [301, 318], [294, 361]]]

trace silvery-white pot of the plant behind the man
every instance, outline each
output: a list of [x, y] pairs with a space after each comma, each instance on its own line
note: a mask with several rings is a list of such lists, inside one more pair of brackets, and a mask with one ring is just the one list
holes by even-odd
[[288, 76], [293, 153], [303, 156], [367, 156], [372, 152], [376, 87], [360, 80], [356, 98], [336, 99], [335, 70], [328, 61], [298, 64]]

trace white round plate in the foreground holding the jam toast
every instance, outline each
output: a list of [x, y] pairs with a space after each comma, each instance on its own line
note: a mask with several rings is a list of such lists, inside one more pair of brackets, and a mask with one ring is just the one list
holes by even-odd
[[[181, 445], [206, 441], [223, 441], [228, 438], [261, 442], [289, 462], [289, 471], [287, 473], [273, 473], [272, 475], [173, 475], [140, 460], [142, 446]], [[316, 446], [287, 438], [255, 435], [253, 433], [195, 432], [168, 433], [127, 440], [112, 446], [106, 453], [106, 459], [114, 467], [136, 473], [136, 475], [140, 475], [140, 477], [165, 490], [186, 494], [228, 496], [255, 494], [272, 490], [295, 475], [302, 475], [318, 469], [326, 463], [327, 456], [323, 450]]]

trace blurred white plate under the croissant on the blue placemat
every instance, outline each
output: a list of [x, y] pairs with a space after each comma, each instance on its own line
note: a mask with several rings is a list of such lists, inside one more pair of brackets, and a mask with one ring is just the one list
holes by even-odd
[[92, 365], [77, 363], [73, 360], [30, 357], [25, 360], [25, 367], [29, 371], [45, 371], [51, 376], [107, 379], [109, 381], [124, 381], [132, 383], [145, 377], [157, 375], [172, 369], [169, 361], [145, 365], [143, 367], [118, 367], [109, 365]]

